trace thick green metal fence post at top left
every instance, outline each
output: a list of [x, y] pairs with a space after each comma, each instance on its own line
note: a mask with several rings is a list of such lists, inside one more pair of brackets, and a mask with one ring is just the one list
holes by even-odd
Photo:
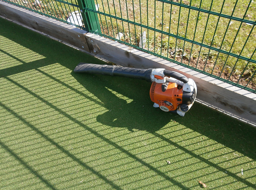
[[94, 0], [77, 0], [83, 18], [85, 29], [88, 32], [102, 33]]

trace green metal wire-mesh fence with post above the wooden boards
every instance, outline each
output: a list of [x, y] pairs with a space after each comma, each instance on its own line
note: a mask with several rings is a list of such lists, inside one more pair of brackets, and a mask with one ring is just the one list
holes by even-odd
[[4, 1], [256, 93], [256, 0]]

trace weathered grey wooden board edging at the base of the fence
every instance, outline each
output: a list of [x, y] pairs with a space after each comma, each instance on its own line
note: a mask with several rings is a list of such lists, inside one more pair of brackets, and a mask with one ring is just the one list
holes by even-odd
[[179, 71], [197, 84], [198, 102], [256, 127], [256, 94], [254, 93], [2, 1], [0, 1], [0, 16], [124, 67], [165, 68]]

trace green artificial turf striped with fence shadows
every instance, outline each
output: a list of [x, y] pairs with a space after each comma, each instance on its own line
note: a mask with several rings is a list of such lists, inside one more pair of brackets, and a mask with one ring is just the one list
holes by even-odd
[[79, 62], [104, 63], [0, 18], [0, 190], [256, 189], [255, 128]]

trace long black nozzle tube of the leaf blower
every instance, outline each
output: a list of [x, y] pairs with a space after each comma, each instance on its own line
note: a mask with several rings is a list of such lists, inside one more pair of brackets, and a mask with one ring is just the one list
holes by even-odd
[[97, 65], [79, 63], [74, 72], [85, 72], [90, 74], [103, 74], [111, 76], [122, 76], [128, 78], [143, 79], [151, 82], [152, 69], [136, 69], [129, 67], [118, 67], [115, 65]]

